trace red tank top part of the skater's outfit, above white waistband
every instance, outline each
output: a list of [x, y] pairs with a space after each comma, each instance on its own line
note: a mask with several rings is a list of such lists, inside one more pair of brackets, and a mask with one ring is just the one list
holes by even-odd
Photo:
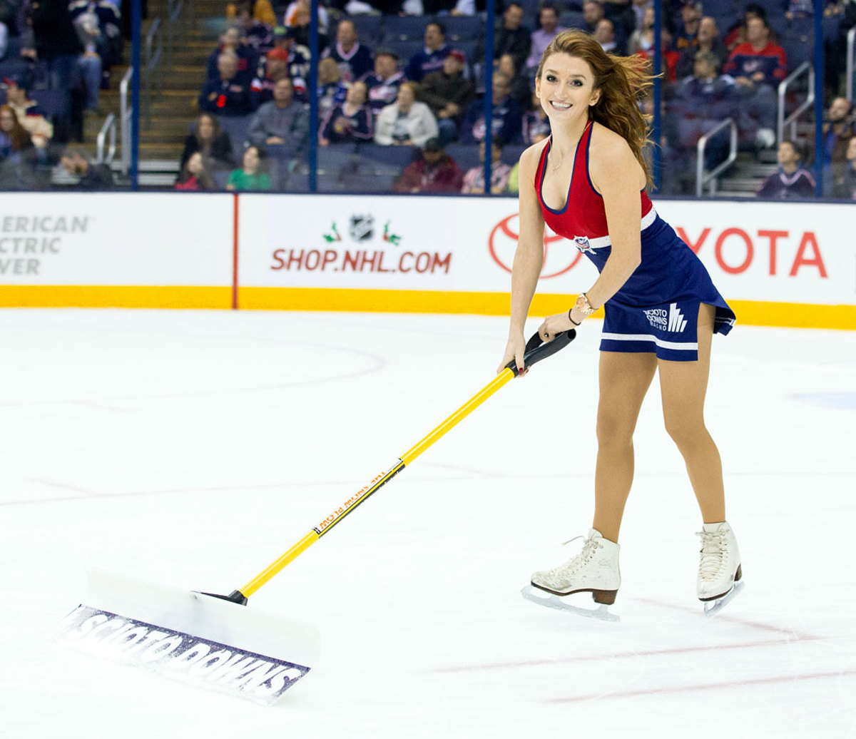
[[[535, 192], [538, 194], [538, 202], [541, 204], [541, 212], [544, 213], [544, 223], [557, 235], [566, 239], [574, 239], [585, 236], [587, 239], [597, 239], [609, 235], [606, 224], [606, 211], [603, 208], [603, 196], [595, 190], [591, 184], [588, 173], [588, 150], [591, 142], [591, 121], [577, 143], [577, 151], [574, 154], [574, 171], [571, 173], [571, 184], [568, 188], [568, 200], [565, 201], [562, 210], [554, 211], [544, 202], [541, 193], [541, 185], [544, 182], [544, 168], [547, 165], [547, 155], [553, 146], [553, 137], [547, 142], [541, 152], [538, 162], [538, 171], [535, 173]], [[642, 218], [651, 211], [651, 199], [645, 192], [641, 191]]]

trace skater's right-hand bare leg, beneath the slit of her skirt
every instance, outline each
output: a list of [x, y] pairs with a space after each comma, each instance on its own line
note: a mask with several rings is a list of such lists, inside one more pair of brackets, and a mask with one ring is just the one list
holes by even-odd
[[712, 306], [698, 310], [698, 361], [659, 361], [660, 390], [666, 431], [687, 464], [705, 523], [725, 521], [725, 492], [719, 450], [704, 426], [704, 395], [710, 373], [713, 337]]

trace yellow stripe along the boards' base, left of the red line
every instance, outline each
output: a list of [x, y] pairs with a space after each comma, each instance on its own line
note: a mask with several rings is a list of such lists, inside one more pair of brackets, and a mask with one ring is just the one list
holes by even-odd
[[0, 285], [0, 307], [230, 308], [231, 287]]

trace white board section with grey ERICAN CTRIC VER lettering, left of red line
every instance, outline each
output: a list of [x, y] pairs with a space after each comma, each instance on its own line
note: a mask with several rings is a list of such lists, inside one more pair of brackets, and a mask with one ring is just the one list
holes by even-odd
[[229, 307], [233, 200], [3, 194], [0, 304]]

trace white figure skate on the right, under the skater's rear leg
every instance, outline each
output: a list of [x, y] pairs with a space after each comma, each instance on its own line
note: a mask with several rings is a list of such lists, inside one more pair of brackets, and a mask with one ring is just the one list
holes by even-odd
[[705, 523], [698, 536], [698, 599], [704, 603], [704, 613], [710, 615], [722, 609], [742, 587], [740, 549], [727, 521]]

